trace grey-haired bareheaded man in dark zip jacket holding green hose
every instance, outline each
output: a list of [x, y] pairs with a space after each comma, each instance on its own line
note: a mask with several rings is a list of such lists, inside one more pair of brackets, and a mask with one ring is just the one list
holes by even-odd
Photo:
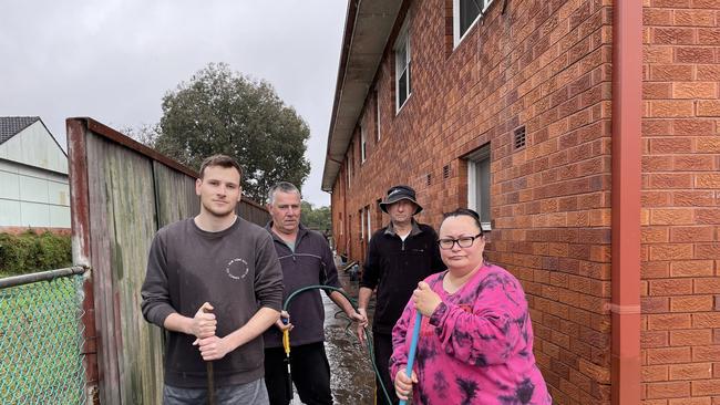
[[[282, 266], [285, 298], [308, 285], [340, 288], [332, 252], [320, 232], [300, 225], [300, 191], [290, 183], [281, 181], [268, 193], [268, 211], [272, 220], [267, 230], [272, 236], [275, 249]], [[367, 319], [338, 291], [328, 297], [346, 314], [361, 323]], [[288, 315], [289, 313], [289, 315]], [[296, 295], [288, 312], [281, 313], [277, 328], [265, 333], [265, 383], [271, 405], [287, 405], [291, 394], [287, 391], [287, 366], [282, 349], [282, 331], [290, 329], [290, 370], [292, 382], [304, 404], [332, 404], [330, 365], [325, 353], [325, 309], [319, 290], [308, 290]], [[291, 322], [290, 322], [291, 316]]]

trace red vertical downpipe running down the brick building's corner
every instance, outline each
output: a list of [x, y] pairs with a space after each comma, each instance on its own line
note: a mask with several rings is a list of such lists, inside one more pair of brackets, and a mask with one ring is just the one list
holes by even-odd
[[642, 2], [613, 4], [611, 404], [639, 404]]

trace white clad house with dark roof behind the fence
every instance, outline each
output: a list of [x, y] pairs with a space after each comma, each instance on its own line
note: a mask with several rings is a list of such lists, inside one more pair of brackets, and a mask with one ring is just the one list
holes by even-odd
[[68, 155], [37, 116], [0, 117], [0, 231], [70, 228]]

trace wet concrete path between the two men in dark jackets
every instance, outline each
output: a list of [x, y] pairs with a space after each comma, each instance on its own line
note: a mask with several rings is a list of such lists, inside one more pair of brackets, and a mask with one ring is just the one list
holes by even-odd
[[[357, 299], [358, 281], [351, 281], [340, 264], [338, 273], [346, 292]], [[322, 293], [322, 301], [325, 303], [326, 351], [330, 363], [330, 384], [335, 403], [338, 405], [372, 405], [374, 403], [374, 372], [367, 347], [361, 346], [358, 342], [354, 325], [350, 324], [348, 328], [349, 321], [344, 316], [344, 312], [325, 293]], [[373, 304], [374, 299], [370, 307], [374, 308]], [[291, 404], [302, 404], [297, 392]]]

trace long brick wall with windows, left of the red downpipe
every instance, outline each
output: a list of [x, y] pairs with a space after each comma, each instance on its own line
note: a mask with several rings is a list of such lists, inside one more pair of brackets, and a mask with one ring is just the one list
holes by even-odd
[[[462, 157], [490, 143], [488, 257], [527, 292], [535, 354], [556, 402], [609, 403], [611, 6], [508, 0], [502, 14], [495, 0], [453, 49], [452, 1], [407, 3], [412, 95], [395, 114], [391, 38], [376, 80], [381, 139], [369, 132], [368, 159], [354, 155], [347, 190], [339, 173], [333, 230], [346, 205], [344, 229], [352, 214], [350, 245], [360, 252], [358, 210], [398, 183], [415, 188], [419, 219], [436, 227], [443, 211], [466, 205]], [[366, 111], [373, 128], [372, 92]], [[527, 146], [514, 150], [520, 125]], [[356, 132], [353, 150], [358, 142]]]

